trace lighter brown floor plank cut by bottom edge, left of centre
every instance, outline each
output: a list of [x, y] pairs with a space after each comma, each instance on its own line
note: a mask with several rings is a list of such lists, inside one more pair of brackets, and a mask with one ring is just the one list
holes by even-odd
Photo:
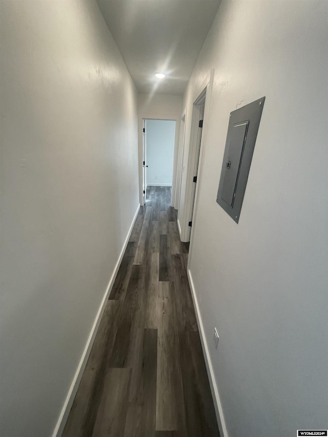
[[124, 435], [131, 369], [108, 369], [92, 437]]

